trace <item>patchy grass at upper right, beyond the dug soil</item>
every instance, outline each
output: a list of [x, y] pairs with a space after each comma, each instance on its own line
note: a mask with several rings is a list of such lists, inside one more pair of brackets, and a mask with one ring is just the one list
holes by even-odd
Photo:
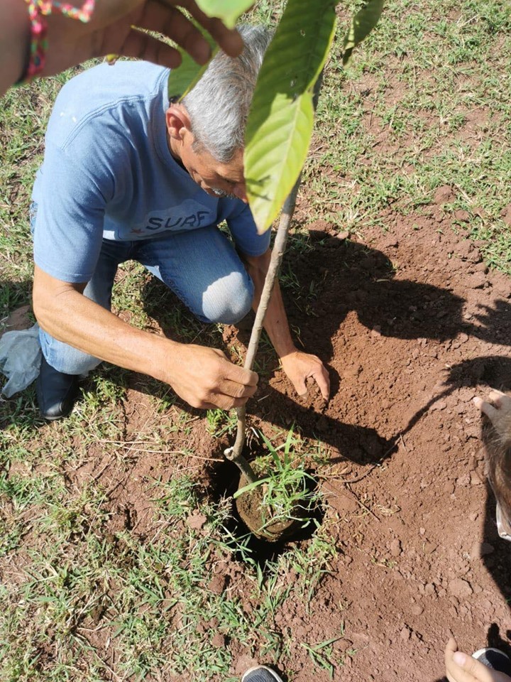
[[361, 232], [384, 225], [390, 205], [427, 213], [436, 188], [451, 185], [447, 214], [469, 216], [461, 237], [483, 240], [488, 263], [511, 272], [501, 215], [511, 200], [510, 26], [505, 4], [400, 1], [388, 3], [346, 72], [337, 40], [304, 180], [314, 188], [312, 220]]

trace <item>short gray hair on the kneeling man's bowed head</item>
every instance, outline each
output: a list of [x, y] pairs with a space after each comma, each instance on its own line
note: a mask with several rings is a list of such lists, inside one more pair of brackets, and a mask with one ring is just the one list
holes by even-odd
[[194, 147], [216, 161], [229, 163], [245, 146], [245, 127], [255, 81], [273, 31], [264, 26], [238, 26], [245, 48], [239, 57], [219, 52], [197, 85], [182, 99]]

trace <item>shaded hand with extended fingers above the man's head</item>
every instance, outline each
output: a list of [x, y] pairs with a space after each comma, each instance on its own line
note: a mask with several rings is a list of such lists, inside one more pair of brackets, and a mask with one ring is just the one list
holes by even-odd
[[[74, 6], [79, 4], [80, 0], [73, 2]], [[243, 41], [238, 32], [226, 28], [219, 19], [207, 17], [194, 0], [96, 0], [87, 23], [58, 13], [48, 17], [48, 51], [42, 75], [53, 75], [108, 54], [138, 57], [171, 68], [180, 65], [177, 50], [137, 28], [162, 33], [197, 63], [206, 63], [211, 55], [209, 45], [177, 5], [189, 11], [224, 52], [231, 57], [241, 53]]]

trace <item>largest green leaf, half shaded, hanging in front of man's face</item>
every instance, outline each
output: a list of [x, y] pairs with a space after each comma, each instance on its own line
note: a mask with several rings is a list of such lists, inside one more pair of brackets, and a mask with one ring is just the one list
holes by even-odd
[[335, 33], [334, 0], [289, 0], [248, 114], [245, 180], [258, 232], [278, 215], [307, 158], [313, 89]]

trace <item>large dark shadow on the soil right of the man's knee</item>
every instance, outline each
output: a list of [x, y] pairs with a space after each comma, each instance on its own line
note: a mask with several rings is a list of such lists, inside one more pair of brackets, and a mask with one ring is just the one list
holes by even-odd
[[[311, 236], [317, 240], [324, 234], [312, 232]], [[354, 310], [361, 324], [378, 328], [384, 337], [442, 342], [463, 331], [486, 342], [511, 345], [511, 335], [502, 333], [504, 325], [511, 325], [510, 301], [499, 300], [495, 308], [482, 307], [475, 316], [477, 323], [468, 323], [463, 319], [463, 298], [431, 284], [396, 279], [392, 261], [377, 249], [330, 237], [309, 253], [298, 254], [292, 268], [300, 271], [303, 264], [312, 274], [326, 271], [314, 306], [321, 317], [322, 335], [324, 323], [328, 325], [325, 332], [334, 331]]]

